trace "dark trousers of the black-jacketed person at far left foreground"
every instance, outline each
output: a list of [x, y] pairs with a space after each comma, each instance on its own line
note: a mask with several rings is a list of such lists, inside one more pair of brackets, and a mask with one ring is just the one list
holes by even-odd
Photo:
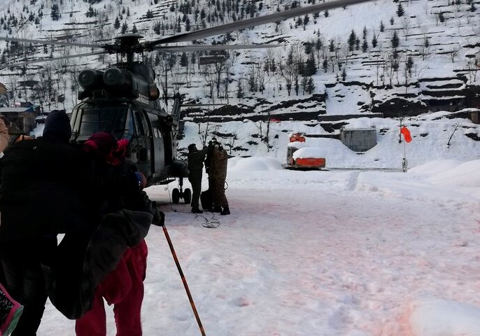
[[12, 336], [36, 335], [47, 300], [41, 263], [50, 262], [56, 247], [56, 237], [1, 243], [4, 286], [24, 306]]

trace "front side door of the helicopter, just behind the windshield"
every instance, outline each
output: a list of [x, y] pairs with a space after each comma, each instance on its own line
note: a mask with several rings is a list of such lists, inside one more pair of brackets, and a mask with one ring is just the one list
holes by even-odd
[[136, 128], [136, 166], [145, 176], [153, 174], [151, 134], [145, 111], [134, 112]]

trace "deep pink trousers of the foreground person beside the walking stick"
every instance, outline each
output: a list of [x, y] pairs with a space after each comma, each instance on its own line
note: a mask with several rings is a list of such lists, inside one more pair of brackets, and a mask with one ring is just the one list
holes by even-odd
[[92, 309], [75, 324], [77, 336], [106, 336], [104, 298], [113, 304], [117, 336], [141, 336], [141, 304], [146, 275], [147, 244], [128, 248], [115, 268], [95, 291]]

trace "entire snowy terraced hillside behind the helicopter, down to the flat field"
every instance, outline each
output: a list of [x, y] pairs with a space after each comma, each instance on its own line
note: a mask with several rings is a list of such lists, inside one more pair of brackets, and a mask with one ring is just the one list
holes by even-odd
[[[135, 32], [151, 40], [313, 3], [3, 1], [0, 34], [101, 44]], [[282, 43], [281, 48], [217, 53], [210, 55], [213, 63], [201, 52], [150, 52], [144, 60], [154, 67], [160, 90], [167, 83], [169, 95], [185, 95], [183, 153], [188, 144], [215, 135], [232, 156], [284, 161], [288, 134], [304, 132], [316, 137], [309, 140], [312, 146], [325, 148], [329, 167], [344, 167], [335, 158], [351, 155], [351, 167], [397, 168], [385, 159], [402, 157], [412, 146], [423, 146], [425, 153], [411, 165], [478, 158], [480, 132], [466, 119], [474, 113], [478, 118], [480, 107], [478, 4], [371, 1], [197, 41]], [[0, 42], [0, 48], [3, 65], [92, 51], [48, 44], [22, 48], [14, 42]], [[45, 111], [68, 110], [78, 103], [78, 73], [114, 63], [114, 55], [97, 55], [1, 69], [0, 82], [8, 89], [3, 104], [30, 100]], [[436, 111], [440, 114], [429, 116]], [[359, 116], [370, 120], [352, 119]], [[407, 148], [397, 141], [399, 118], [414, 134]], [[344, 125], [376, 127], [378, 144], [366, 153], [348, 150], [332, 139]], [[470, 151], [455, 151], [456, 141], [471, 144]]]

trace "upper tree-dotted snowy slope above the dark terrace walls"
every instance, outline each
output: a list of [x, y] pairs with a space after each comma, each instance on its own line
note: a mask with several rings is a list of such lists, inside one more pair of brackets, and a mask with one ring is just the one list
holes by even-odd
[[[0, 34], [101, 44], [133, 31], [155, 39], [311, 3], [5, 0], [0, 7]], [[445, 107], [456, 111], [479, 104], [477, 88], [472, 88], [480, 80], [475, 61], [480, 51], [477, 6], [478, 1], [473, 0], [372, 1], [199, 41], [283, 43], [282, 48], [228, 52], [222, 62], [205, 65], [199, 65], [198, 52], [173, 56], [152, 52], [146, 60], [155, 66], [159, 86], [167, 69], [169, 94], [186, 94], [189, 102], [243, 105], [262, 113], [275, 102], [325, 94], [325, 102], [306, 108], [296, 104], [290, 112], [383, 112], [382, 103], [395, 97], [407, 97], [423, 112]], [[50, 45], [22, 50], [5, 42], [0, 48], [0, 64], [90, 51]], [[77, 102], [78, 71], [88, 66], [105, 68], [114, 58], [108, 55], [30, 64], [25, 73], [20, 68], [3, 69], [0, 82], [13, 91], [12, 99], [22, 100], [25, 93], [35, 98], [41, 91], [48, 99], [38, 103], [46, 111], [69, 109]], [[218, 71], [220, 76], [216, 76]], [[39, 83], [29, 86], [22, 83], [25, 80]], [[467, 89], [473, 97], [466, 97]], [[445, 104], [435, 108], [442, 100]]]

